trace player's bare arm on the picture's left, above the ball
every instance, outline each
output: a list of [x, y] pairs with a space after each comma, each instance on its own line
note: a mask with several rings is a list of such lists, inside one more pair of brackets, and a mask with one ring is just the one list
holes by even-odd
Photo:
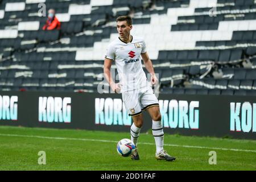
[[114, 80], [112, 79], [111, 76], [111, 66], [112, 66], [112, 61], [111, 59], [105, 58], [104, 60], [104, 76], [107, 79], [107, 81], [109, 82], [110, 88], [115, 92], [115, 93], [119, 93], [120, 92], [120, 87], [118, 84], [115, 84]]

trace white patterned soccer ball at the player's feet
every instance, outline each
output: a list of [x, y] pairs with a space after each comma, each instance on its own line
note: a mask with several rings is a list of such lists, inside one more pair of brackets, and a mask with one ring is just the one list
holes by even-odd
[[131, 155], [131, 153], [135, 150], [135, 144], [130, 139], [121, 139], [117, 143], [117, 152], [119, 155], [123, 157], [127, 157]]

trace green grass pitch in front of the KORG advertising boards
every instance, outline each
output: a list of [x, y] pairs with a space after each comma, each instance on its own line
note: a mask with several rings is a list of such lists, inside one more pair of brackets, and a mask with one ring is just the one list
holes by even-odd
[[[255, 140], [166, 134], [164, 148], [176, 156], [166, 162], [155, 159], [151, 134], [139, 137], [139, 161], [118, 155], [122, 138], [129, 132], [0, 126], [0, 170], [256, 170]], [[39, 151], [46, 152], [46, 165], [38, 164]], [[210, 151], [216, 151], [216, 165], [209, 164]]]

